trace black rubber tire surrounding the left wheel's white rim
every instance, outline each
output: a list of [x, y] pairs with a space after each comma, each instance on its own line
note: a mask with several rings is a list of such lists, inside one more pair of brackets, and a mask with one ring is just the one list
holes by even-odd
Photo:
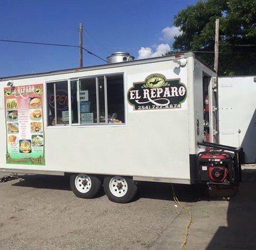
[[[81, 176], [81, 174], [72, 174], [70, 176], [70, 187], [71, 187], [71, 190], [74, 192], [76, 197], [83, 198], [83, 199], [91, 199], [91, 198], [95, 197], [98, 194], [98, 192], [100, 192], [100, 189], [102, 187], [102, 182], [101, 182], [101, 179], [98, 178], [97, 176], [93, 176], [93, 175], [90, 175], [90, 174], [84, 174], [84, 175], [88, 176], [90, 178], [90, 181], [91, 181], [89, 191], [81, 192], [76, 187], [76, 178]], [[81, 183], [81, 185], [84, 186], [84, 184], [82, 184], [82, 183]], [[84, 187], [86, 187], [86, 186], [84, 186]]]

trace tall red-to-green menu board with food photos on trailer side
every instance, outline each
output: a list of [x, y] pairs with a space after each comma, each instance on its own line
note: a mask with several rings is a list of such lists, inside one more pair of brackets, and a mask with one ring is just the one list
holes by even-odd
[[4, 88], [6, 163], [44, 165], [43, 84]]

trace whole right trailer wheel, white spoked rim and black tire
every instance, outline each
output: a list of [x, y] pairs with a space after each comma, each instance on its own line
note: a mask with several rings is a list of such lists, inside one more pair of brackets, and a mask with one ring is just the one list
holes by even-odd
[[133, 179], [121, 176], [106, 177], [103, 186], [108, 199], [118, 203], [131, 201], [137, 192], [137, 186]]

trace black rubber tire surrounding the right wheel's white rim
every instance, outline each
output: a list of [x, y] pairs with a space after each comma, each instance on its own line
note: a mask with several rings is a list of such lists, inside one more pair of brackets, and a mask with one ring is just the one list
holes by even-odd
[[[127, 184], [127, 189], [126, 189], [127, 191], [126, 191], [125, 195], [123, 195], [121, 197], [118, 197], [118, 196], [115, 195], [115, 193], [113, 193], [110, 190], [110, 181], [113, 178], [123, 178], [123, 179], [125, 179], [126, 184]], [[103, 186], [104, 186], [105, 194], [106, 194], [106, 196], [108, 196], [108, 199], [110, 199], [110, 201], [117, 202], [117, 203], [130, 202], [135, 197], [136, 192], [137, 192], [137, 186], [136, 186], [135, 182], [133, 181], [133, 179], [126, 178], [126, 177], [107, 176], [104, 179]], [[118, 190], [118, 189], [116, 189], [116, 190]]]

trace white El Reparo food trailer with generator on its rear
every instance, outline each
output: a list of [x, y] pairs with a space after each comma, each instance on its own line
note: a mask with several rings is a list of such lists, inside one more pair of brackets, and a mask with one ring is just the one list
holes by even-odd
[[237, 185], [240, 149], [218, 143], [216, 74], [193, 53], [0, 79], [0, 170], [103, 183], [128, 202], [137, 181]]

